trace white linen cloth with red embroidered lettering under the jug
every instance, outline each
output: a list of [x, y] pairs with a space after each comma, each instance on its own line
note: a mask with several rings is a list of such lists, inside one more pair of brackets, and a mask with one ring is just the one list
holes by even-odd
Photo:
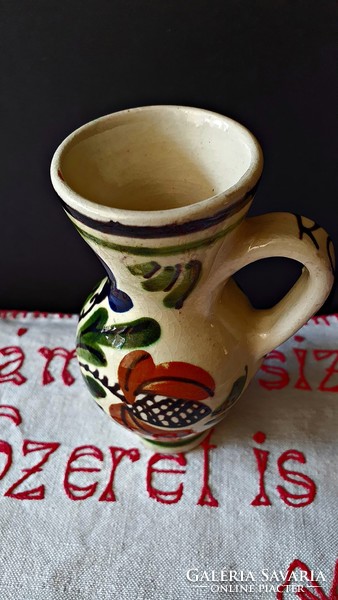
[[167, 459], [91, 399], [76, 322], [0, 311], [0, 598], [337, 599], [338, 317]]

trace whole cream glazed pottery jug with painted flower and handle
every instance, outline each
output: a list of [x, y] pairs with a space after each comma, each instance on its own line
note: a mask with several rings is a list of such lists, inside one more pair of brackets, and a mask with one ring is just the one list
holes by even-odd
[[[54, 155], [55, 190], [107, 272], [80, 314], [84, 380], [155, 449], [200, 443], [330, 291], [323, 229], [288, 213], [245, 218], [262, 167], [247, 129], [181, 106], [97, 119]], [[271, 256], [305, 268], [274, 308], [254, 310], [232, 275]]]

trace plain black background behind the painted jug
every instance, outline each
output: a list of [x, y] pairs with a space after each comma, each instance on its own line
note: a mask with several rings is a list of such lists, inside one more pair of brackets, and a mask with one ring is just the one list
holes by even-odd
[[[79, 311], [102, 267], [63, 213], [52, 154], [75, 128], [147, 104], [214, 110], [260, 140], [251, 214], [311, 217], [338, 248], [335, 2], [55, 0], [0, 3], [0, 308]], [[292, 261], [247, 267], [241, 285], [273, 304]], [[322, 313], [338, 311], [332, 293]]]

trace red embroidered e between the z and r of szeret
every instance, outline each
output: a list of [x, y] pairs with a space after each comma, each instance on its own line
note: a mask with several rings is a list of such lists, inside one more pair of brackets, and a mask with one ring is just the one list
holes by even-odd
[[63, 487], [70, 500], [85, 500], [86, 498], [90, 498], [97, 488], [97, 481], [88, 485], [78, 485], [69, 481], [72, 473], [98, 473], [101, 471], [101, 467], [74, 467], [73, 463], [84, 456], [90, 456], [100, 462], [103, 461], [102, 451], [97, 446], [78, 446], [74, 448], [68, 459], [63, 480]]

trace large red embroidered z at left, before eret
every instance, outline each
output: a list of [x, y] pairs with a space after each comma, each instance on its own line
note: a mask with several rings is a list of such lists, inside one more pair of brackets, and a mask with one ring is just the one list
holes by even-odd
[[32, 488], [30, 490], [24, 490], [22, 492], [15, 492], [14, 490], [19, 487], [21, 483], [26, 481], [31, 475], [34, 473], [39, 473], [42, 471], [42, 465], [44, 465], [51, 454], [58, 449], [60, 444], [57, 442], [33, 442], [31, 440], [24, 440], [22, 444], [22, 454], [23, 456], [27, 456], [30, 452], [40, 452], [41, 450], [45, 450], [41, 460], [30, 467], [29, 469], [22, 469], [22, 472], [25, 473], [18, 481], [13, 483], [11, 487], [5, 492], [4, 496], [8, 496], [9, 498], [16, 498], [17, 500], [42, 500], [45, 497], [45, 486], [39, 485], [36, 488]]

